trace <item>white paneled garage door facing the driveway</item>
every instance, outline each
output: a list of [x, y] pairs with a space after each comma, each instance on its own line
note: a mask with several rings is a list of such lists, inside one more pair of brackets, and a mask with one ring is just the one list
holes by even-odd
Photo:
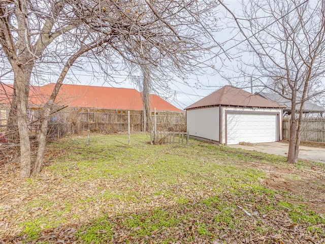
[[228, 114], [227, 144], [277, 141], [276, 114]]

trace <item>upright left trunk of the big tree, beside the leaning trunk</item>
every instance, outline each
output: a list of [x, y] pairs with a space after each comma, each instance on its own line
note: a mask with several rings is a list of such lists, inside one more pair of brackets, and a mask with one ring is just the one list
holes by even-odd
[[15, 70], [15, 83], [16, 83], [16, 112], [18, 132], [20, 139], [20, 176], [30, 176], [30, 143], [27, 127], [27, 112], [26, 104], [28, 96], [26, 96], [25, 87], [25, 72], [22, 69]]

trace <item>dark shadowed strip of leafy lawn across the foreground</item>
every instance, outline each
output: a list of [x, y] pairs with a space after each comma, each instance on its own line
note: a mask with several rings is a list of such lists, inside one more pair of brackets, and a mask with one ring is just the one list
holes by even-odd
[[183, 197], [2, 243], [323, 243], [325, 220], [276, 194], [254, 185], [206, 199]]

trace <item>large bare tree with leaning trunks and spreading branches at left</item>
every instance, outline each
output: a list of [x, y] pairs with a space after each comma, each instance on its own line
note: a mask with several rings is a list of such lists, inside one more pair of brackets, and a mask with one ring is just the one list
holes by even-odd
[[112, 69], [116, 63], [120, 69], [134, 63], [191, 72], [212, 47], [216, 7], [212, 0], [2, 0], [1, 55], [14, 74], [9, 124], [17, 118], [20, 175], [30, 175], [26, 108], [30, 82], [41, 71], [60, 72], [40, 117], [33, 173], [42, 169], [48, 119], [60, 86], [78, 60], [105, 62]]

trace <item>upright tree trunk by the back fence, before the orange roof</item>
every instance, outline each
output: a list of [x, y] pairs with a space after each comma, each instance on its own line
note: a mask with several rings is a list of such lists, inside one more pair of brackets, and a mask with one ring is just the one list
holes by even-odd
[[151, 116], [150, 116], [150, 72], [148, 66], [142, 66], [143, 70], [143, 90], [142, 90], [142, 103], [143, 103], [143, 129], [150, 131]]

